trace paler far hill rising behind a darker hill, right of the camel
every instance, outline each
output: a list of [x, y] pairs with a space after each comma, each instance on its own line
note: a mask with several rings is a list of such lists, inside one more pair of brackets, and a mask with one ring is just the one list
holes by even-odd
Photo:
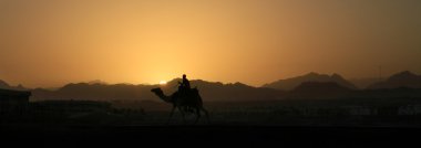
[[348, 88], [357, 88], [352, 83], [348, 82], [339, 74], [327, 75], [327, 74], [318, 74], [314, 72], [302, 75], [302, 76], [291, 77], [287, 80], [279, 80], [274, 83], [265, 84], [263, 87], [291, 91], [305, 82], [335, 82]]

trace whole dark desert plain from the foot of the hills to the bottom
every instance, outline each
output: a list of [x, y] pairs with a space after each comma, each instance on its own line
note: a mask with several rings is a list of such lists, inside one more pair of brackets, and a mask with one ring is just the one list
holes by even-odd
[[401, 102], [208, 103], [196, 125], [166, 104], [40, 102], [0, 118], [0, 147], [419, 147], [421, 106]]

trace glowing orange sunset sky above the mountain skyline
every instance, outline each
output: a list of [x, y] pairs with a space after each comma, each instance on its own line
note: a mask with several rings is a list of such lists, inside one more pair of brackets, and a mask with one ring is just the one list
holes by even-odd
[[420, 0], [0, 0], [0, 80], [254, 86], [421, 74]]

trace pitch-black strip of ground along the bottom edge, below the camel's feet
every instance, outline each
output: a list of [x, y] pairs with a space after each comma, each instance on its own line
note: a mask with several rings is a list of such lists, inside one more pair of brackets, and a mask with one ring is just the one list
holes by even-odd
[[421, 128], [291, 126], [2, 126], [2, 144], [50, 147], [409, 147]]

